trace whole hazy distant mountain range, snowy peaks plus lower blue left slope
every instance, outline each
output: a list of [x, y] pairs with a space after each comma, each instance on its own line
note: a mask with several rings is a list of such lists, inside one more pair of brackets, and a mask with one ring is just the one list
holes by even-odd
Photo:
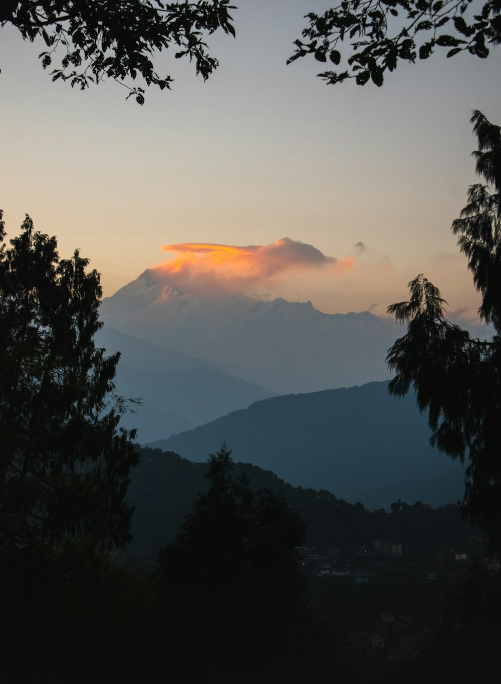
[[[140, 443], [190, 430], [277, 394], [389, 378], [388, 348], [405, 329], [362, 313], [325, 314], [311, 302], [184, 295], [148, 269], [103, 301], [96, 336], [122, 352], [124, 397], [141, 397], [122, 425]], [[460, 324], [464, 321], [458, 321]], [[485, 326], [473, 334], [489, 337]]]

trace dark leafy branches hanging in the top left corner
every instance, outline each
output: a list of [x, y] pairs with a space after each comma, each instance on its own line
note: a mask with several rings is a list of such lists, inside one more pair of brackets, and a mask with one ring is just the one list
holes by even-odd
[[111, 78], [144, 103], [144, 88], [130, 82], [141, 76], [147, 86], [170, 88], [172, 78], [159, 76], [152, 58], [171, 45], [175, 57], [195, 62], [207, 79], [218, 66], [207, 52], [204, 34], [221, 28], [234, 36], [230, 0], [161, 3], [159, 0], [4, 0], [0, 25], [11, 24], [25, 40], [40, 36], [47, 47], [39, 57], [53, 81], [62, 79], [82, 90]]

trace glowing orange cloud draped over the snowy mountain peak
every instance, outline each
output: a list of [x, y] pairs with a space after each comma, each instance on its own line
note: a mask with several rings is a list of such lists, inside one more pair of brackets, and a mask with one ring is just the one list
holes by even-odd
[[298, 272], [334, 275], [353, 259], [326, 257], [314, 246], [283, 237], [270, 245], [182, 243], [163, 245], [173, 259], [155, 271], [186, 294], [254, 294]]

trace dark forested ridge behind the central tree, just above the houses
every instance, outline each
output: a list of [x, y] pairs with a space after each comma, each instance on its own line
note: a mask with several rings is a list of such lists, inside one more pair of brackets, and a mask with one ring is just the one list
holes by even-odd
[[[185, 516], [193, 510], [200, 492], [207, 489], [206, 463], [193, 463], [175, 453], [140, 449], [139, 465], [131, 471], [127, 497], [136, 505], [132, 518], [133, 542], [129, 553], [152, 556], [174, 540]], [[299, 512], [307, 527], [307, 543], [314, 547], [347, 547], [370, 544], [377, 538], [399, 540], [414, 552], [458, 544], [465, 548], [470, 525], [459, 518], [457, 508], [442, 514], [414, 507], [405, 520], [388, 514], [370, 516], [363, 506], [343, 503], [329, 492], [294, 488], [271, 471], [249, 463], [235, 463], [235, 477], [245, 473], [253, 491], [267, 488], [284, 497]], [[412, 513], [409, 510], [407, 513]]]

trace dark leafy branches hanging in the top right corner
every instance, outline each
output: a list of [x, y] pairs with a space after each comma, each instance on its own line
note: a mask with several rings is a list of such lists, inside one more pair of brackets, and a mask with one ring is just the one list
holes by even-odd
[[312, 54], [338, 66], [341, 44], [348, 42], [347, 68], [319, 77], [329, 84], [354, 78], [359, 86], [369, 79], [381, 86], [398, 60], [427, 60], [437, 47], [446, 48], [448, 57], [467, 51], [485, 59], [489, 46], [501, 40], [501, 2], [474, 5], [474, 0], [342, 0], [323, 14], [306, 14], [309, 25], [295, 40], [288, 63]]

